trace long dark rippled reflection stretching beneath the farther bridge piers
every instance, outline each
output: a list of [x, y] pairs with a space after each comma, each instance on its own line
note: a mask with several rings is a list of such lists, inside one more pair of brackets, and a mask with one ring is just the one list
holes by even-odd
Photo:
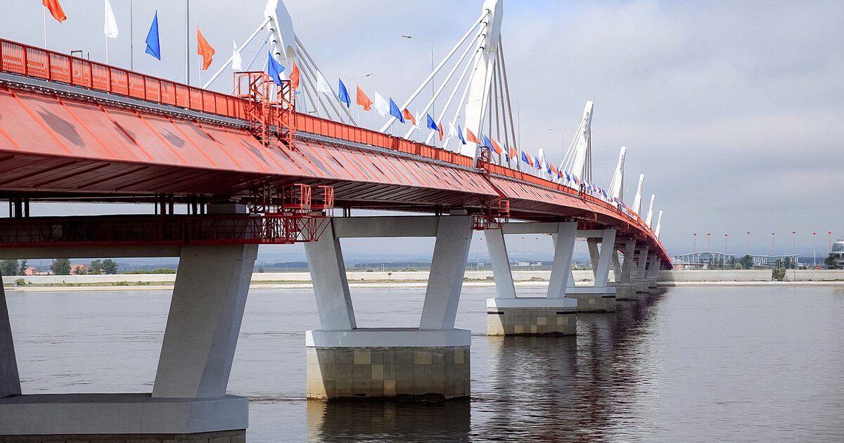
[[475, 402], [473, 429], [507, 429], [520, 440], [606, 437], [630, 403], [641, 401], [636, 386], [652, 376], [639, 365], [647, 349], [637, 332], [655, 326], [662, 294], [642, 295], [614, 313], [581, 314], [576, 337], [490, 337], [495, 408], [479, 423], [484, 402]]

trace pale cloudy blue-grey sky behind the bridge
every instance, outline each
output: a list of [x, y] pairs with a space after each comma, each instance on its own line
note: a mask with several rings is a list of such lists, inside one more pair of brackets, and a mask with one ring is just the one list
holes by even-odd
[[[130, 2], [111, 3], [120, 27], [120, 36], [109, 42], [111, 64], [129, 68], [133, 53], [135, 70], [160, 70], [162, 77], [184, 81], [185, 2], [134, 0], [133, 51]], [[232, 39], [245, 40], [261, 23], [263, 3], [190, 3], [193, 84], [200, 75], [197, 24], [218, 51], [211, 70], [201, 74], [208, 78], [230, 56]], [[475, 0], [285, 3], [297, 35], [327, 78], [371, 73], [347, 82], [349, 89], [360, 84], [401, 98], [430, 73], [431, 47], [400, 35], [432, 41], [439, 59], [481, 7]], [[103, 2], [62, 0], [62, 7], [64, 23], [47, 15], [47, 46], [89, 51], [91, 59], [105, 62]], [[9, 3], [0, 15], [0, 35], [44, 46], [42, 10], [36, 0]], [[155, 10], [160, 65], [143, 53]], [[584, 103], [593, 100], [594, 181], [609, 186], [619, 147], [627, 146], [625, 200], [632, 201], [644, 172], [643, 199], [657, 195], [655, 208], [664, 211], [661, 240], [669, 253], [692, 251], [695, 232], [698, 251], [706, 249], [711, 233], [711, 250], [769, 253], [776, 233], [777, 253], [811, 255], [816, 231], [817, 250], [825, 256], [826, 232], [832, 231], [833, 240], [844, 235], [842, 23], [844, 3], [834, 1], [506, 1], [501, 33], [522, 149], [544, 148], [549, 158], [561, 159]], [[229, 87], [227, 76], [214, 87]], [[373, 116], [362, 122], [376, 125]], [[542, 243], [537, 249], [549, 252], [549, 241]], [[380, 245], [376, 249], [389, 250]], [[414, 243], [420, 250], [430, 245]], [[517, 245], [518, 239], [511, 249]], [[370, 251], [363, 243], [349, 248]], [[474, 241], [473, 253], [483, 251], [483, 242]]]

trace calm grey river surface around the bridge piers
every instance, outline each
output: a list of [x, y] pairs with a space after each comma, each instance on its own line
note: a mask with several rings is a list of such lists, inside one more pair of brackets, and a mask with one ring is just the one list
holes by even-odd
[[[424, 292], [353, 288], [358, 325], [415, 326]], [[576, 338], [487, 338], [493, 292], [460, 302], [470, 401], [326, 404], [305, 399], [313, 293], [253, 289], [229, 383], [249, 441], [844, 441], [844, 287], [670, 289]], [[6, 296], [24, 393], [151, 391], [169, 293]]]

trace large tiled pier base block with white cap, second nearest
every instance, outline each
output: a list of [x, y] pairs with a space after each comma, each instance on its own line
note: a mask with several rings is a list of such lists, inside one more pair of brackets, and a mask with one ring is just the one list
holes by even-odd
[[308, 331], [307, 397], [468, 397], [470, 343], [462, 329]]

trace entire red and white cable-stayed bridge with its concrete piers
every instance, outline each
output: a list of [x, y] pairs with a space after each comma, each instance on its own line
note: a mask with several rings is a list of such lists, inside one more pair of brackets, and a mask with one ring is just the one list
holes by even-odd
[[[559, 168], [514, 146], [502, 16], [503, 2], [486, 0], [402, 103], [413, 126], [391, 115], [379, 131], [358, 126], [333, 90], [323, 94], [278, 1], [241, 49], [263, 31], [256, 53], [300, 68], [301, 98], [290, 78], [248, 67], [223, 94], [0, 40], [0, 198], [9, 208], [0, 258], [180, 257], [146, 394], [21, 395], [0, 292], [0, 435], [242, 435], [247, 399], [225, 390], [260, 245], [305, 245], [321, 321], [306, 336], [307, 392], [321, 399], [468, 397], [470, 332], [455, 316], [473, 230], [484, 230], [495, 273], [492, 335], [574, 334], [577, 312], [614, 311], [616, 300], [655, 287], [671, 267], [662, 213], [652, 228], [652, 197], [638, 214], [644, 175], [624, 203], [625, 148], [609, 190], [592, 183], [592, 102]], [[437, 73], [435, 97], [413, 116]], [[424, 133], [415, 121], [441, 95], [437, 130]], [[391, 135], [397, 127], [407, 132]], [[148, 203], [154, 212], [33, 217], [36, 202]], [[360, 209], [400, 214], [352, 216]], [[539, 233], [555, 243], [547, 294], [520, 297], [505, 236]], [[410, 236], [436, 238], [419, 327], [357, 327], [339, 240]], [[579, 240], [596, 264], [590, 286], [571, 277]]]

